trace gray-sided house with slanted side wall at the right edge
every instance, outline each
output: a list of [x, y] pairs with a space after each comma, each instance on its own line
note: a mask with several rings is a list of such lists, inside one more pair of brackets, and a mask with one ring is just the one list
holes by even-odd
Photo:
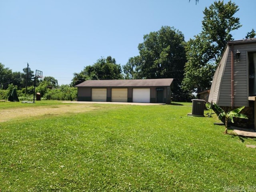
[[245, 106], [243, 113], [249, 120], [243, 126], [256, 128], [256, 38], [228, 42], [208, 102], [226, 110]]

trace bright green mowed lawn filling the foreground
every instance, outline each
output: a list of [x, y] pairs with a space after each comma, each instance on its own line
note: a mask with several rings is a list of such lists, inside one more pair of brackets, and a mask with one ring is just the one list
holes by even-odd
[[[65, 105], [48, 103], [59, 104]], [[256, 140], [224, 135], [224, 127], [213, 124], [219, 122], [216, 116], [187, 116], [191, 103], [183, 104], [66, 104], [96, 109], [1, 122], [0, 191], [224, 191], [226, 186], [255, 186], [256, 149], [246, 144], [256, 145]]]

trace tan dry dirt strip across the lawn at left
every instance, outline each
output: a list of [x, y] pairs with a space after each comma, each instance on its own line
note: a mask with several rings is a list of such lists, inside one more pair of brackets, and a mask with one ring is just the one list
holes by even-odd
[[91, 110], [95, 110], [96, 108], [97, 107], [92, 105], [79, 104], [12, 108], [0, 111], [0, 122], [19, 120], [43, 115], [60, 115], [65, 113], [88, 112]]

